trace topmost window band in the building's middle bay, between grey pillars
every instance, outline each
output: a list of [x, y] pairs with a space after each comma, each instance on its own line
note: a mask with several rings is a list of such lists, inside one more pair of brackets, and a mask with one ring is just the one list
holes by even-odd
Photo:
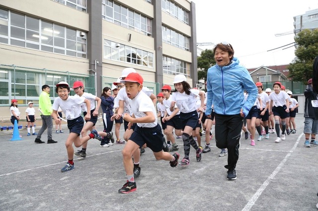
[[152, 36], [152, 21], [113, 0], [102, 0], [102, 18], [119, 26]]

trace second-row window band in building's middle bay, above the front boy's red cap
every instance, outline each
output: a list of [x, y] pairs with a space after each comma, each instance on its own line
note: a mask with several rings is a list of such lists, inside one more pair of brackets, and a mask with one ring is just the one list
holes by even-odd
[[104, 58], [153, 68], [154, 53], [104, 40]]

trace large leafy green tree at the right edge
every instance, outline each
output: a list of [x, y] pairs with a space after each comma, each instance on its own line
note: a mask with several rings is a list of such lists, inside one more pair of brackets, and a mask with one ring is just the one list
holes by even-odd
[[314, 59], [318, 55], [318, 30], [304, 29], [295, 37], [297, 49], [295, 59], [288, 66], [293, 81], [307, 81], [313, 77]]

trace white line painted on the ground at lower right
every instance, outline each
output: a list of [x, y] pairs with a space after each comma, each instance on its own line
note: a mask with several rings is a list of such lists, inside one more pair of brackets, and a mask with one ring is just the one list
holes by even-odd
[[260, 186], [260, 188], [256, 191], [256, 193], [254, 194], [254, 196], [248, 201], [248, 203], [245, 205], [245, 207], [243, 208], [242, 211], [249, 211], [253, 205], [255, 204], [255, 202], [257, 201], [257, 199], [260, 197], [260, 195], [262, 194], [262, 192], [266, 189], [266, 187], [268, 186], [269, 182], [274, 179], [274, 177], [276, 176], [276, 174], [280, 171], [280, 169], [284, 166], [284, 164], [286, 163], [287, 159], [290, 157], [290, 155], [294, 152], [294, 150], [296, 149], [301, 137], [304, 135], [304, 133], [300, 134], [294, 147], [292, 148], [292, 150], [290, 151], [290, 153], [288, 153], [285, 158], [279, 163], [279, 165], [276, 167], [276, 169], [273, 171], [273, 173], [265, 180], [265, 182]]

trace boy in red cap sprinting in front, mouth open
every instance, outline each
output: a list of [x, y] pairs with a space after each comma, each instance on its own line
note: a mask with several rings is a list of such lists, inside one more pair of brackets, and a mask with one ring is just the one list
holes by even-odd
[[131, 124], [136, 123], [135, 130], [125, 145], [122, 154], [123, 162], [127, 175], [127, 182], [118, 190], [118, 193], [130, 193], [137, 190], [134, 178], [134, 165], [131, 161], [131, 155], [147, 144], [147, 147], [154, 152], [157, 160], [163, 159], [170, 161], [170, 166], [175, 167], [178, 163], [179, 154], [170, 155], [163, 152], [163, 135], [161, 127], [156, 117], [156, 109], [151, 99], [141, 92], [143, 88], [143, 78], [139, 73], [130, 73], [121, 82], [126, 86], [126, 93], [130, 99], [132, 116], [125, 113], [123, 118]]

